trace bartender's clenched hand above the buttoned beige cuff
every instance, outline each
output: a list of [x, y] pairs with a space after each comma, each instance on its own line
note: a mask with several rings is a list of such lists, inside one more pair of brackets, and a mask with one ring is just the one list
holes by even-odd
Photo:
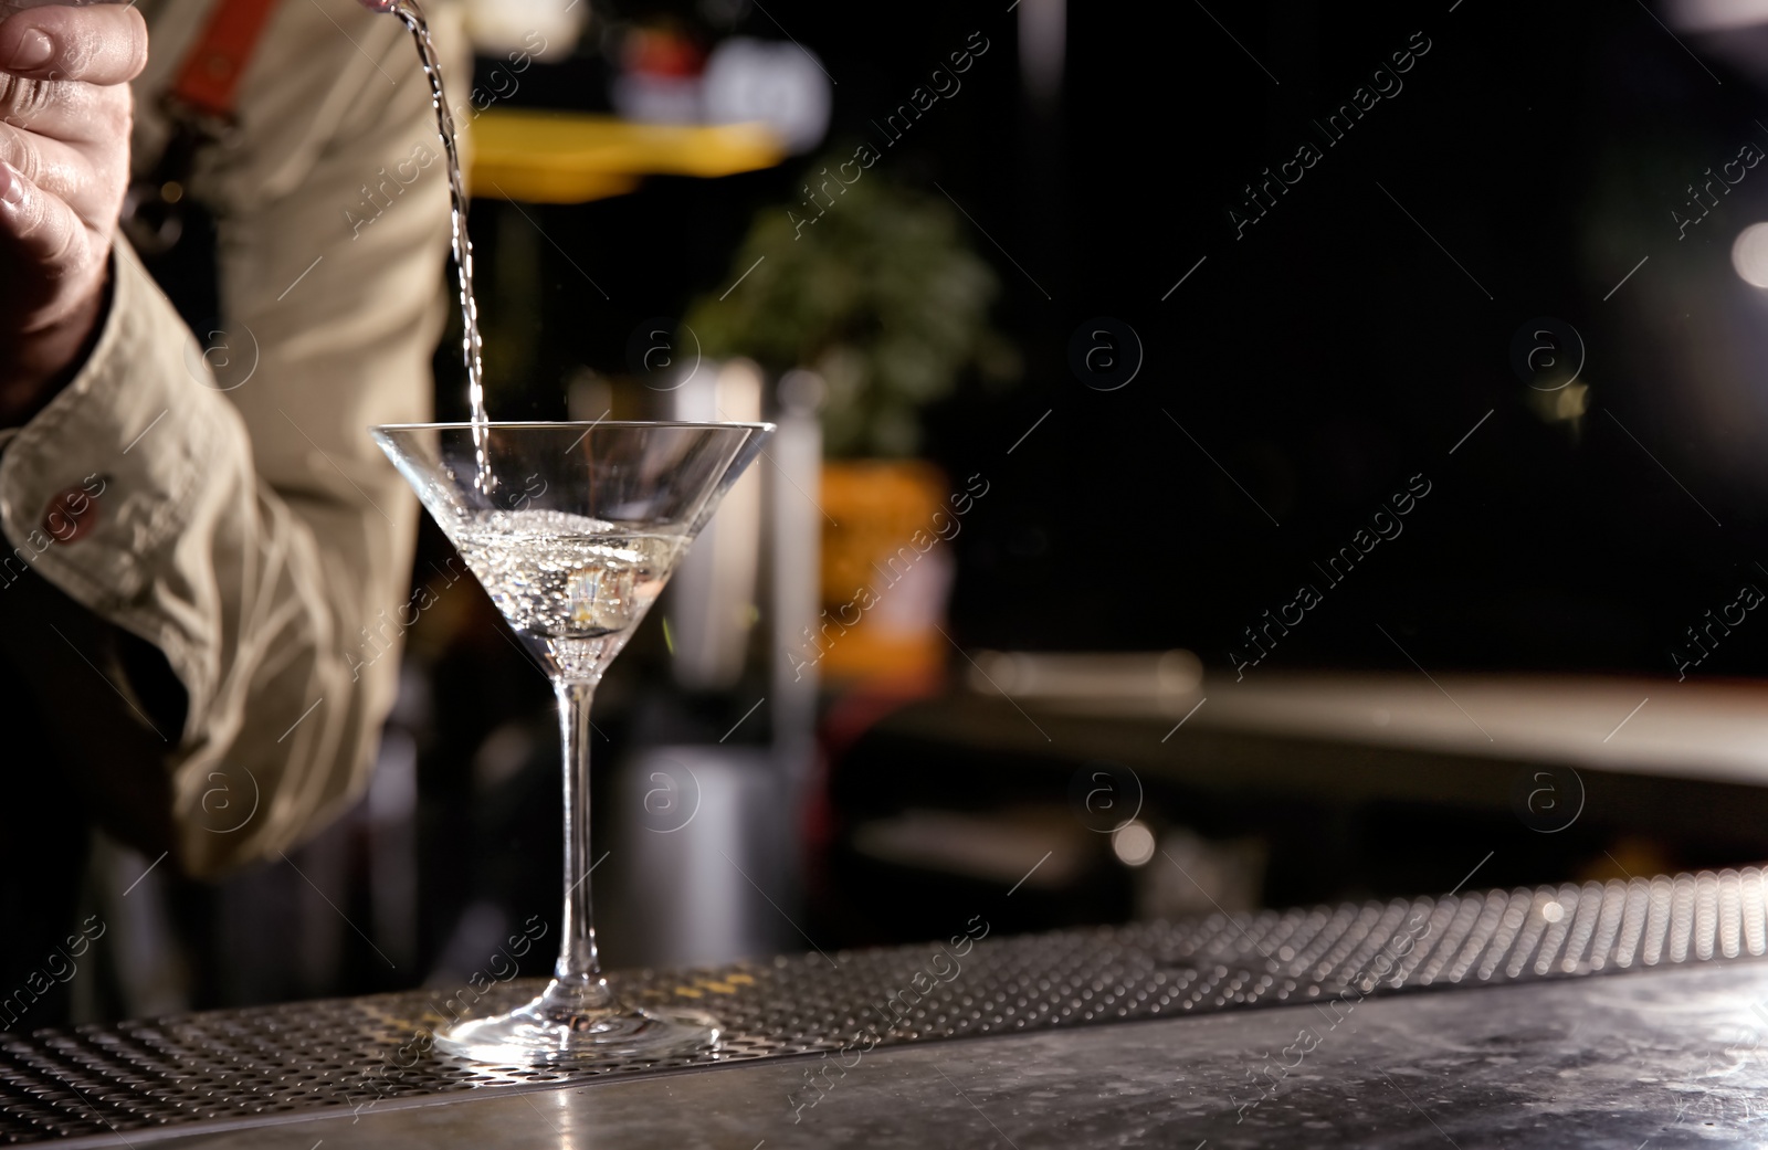
[[134, 7], [51, 4], [0, 21], [0, 427], [78, 371], [104, 314], [143, 64]]

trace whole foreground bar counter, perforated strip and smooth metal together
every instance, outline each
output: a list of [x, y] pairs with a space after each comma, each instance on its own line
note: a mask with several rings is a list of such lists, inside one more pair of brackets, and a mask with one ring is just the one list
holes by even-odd
[[1757, 1146], [1764, 894], [1749, 869], [1022, 938], [976, 917], [941, 945], [626, 975], [730, 1039], [594, 1072], [440, 1060], [446, 993], [39, 1032], [0, 1046], [0, 1138]]

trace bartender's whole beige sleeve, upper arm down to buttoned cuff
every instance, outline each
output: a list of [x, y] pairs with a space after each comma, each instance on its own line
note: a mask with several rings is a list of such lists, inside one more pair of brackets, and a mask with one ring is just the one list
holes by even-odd
[[[184, 23], [154, 42], [138, 147], [194, 34], [189, 5], [168, 12]], [[438, 44], [463, 49], [442, 14]], [[465, 53], [447, 58], [463, 102]], [[90, 360], [0, 456], [11, 562], [154, 643], [184, 685], [175, 751], [140, 768], [170, 770], [194, 874], [297, 844], [368, 781], [417, 507], [366, 429], [428, 419], [446, 318], [446, 173], [403, 25], [285, 0], [239, 118], [193, 180], [219, 221], [226, 346], [200, 346], [118, 240]], [[103, 488], [97, 523], [55, 542], [42, 518], [80, 486]]]

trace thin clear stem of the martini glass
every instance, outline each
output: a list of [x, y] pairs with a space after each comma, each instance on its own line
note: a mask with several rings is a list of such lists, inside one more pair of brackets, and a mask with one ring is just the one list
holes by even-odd
[[564, 929], [553, 991], [576, 1007], [596, 1009], [613, 1002], [596, 957], [596, 920], [591, 913], [589, 871], [589, 705], [596, 694], [591, 680], [559, 680], [559, 735], [564, 747]]

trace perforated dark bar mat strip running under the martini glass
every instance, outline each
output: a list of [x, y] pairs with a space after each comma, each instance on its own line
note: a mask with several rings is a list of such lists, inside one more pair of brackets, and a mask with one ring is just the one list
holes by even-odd
[[[987, 924], [972, 920], [971, 934]], [[1763, 871], [1319, 906], [1177, 922], [808, 954], [612, 977], [651, 1003], [718, 1014], [716, 1051], [594, 1071], [490, 1067], [428, 1053], [472, 995], [214, 1010], [0, 1039], [0, 1141], [522, 1088], [987, 1033], [1170, 1018], [1430, 986], [1489, 986], [1768, 952]], [[493, 987], [516, 1005], [539, 982]]]

